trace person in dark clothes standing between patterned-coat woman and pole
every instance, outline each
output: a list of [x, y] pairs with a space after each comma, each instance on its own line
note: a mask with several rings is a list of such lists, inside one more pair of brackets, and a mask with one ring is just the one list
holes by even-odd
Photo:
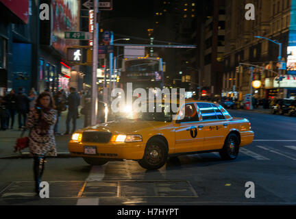
[[78, 106], [80, 105], [80, 96], [76, 92], [76, 88], [70, 88], [71, 94], [67, 98], [68, 114], [66, 118], [66, 132], [64, 135], [69, 135], [70, 121], [72, 120], [73, 127], [71, 133], [76, 130], [76, 119], [78, 117]]

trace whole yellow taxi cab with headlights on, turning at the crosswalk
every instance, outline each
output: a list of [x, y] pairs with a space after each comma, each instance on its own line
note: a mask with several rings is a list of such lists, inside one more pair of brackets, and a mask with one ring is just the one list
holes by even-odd
[[218, 103], [186, 100], [177, 114], [164, 108], [79, 129], [69, 151], [90, 165], [132, 159], [143, 168], [158, 169], [168, 157], [193, 153], [216, 151], [222, 159], [233, 160], [253, 139], [246, 118], [232, 118]]

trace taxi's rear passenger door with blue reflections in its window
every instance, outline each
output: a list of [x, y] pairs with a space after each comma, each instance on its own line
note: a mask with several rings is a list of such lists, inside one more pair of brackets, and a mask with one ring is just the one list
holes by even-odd
[[219, 108], [211, 103], [197, 103], [204, 126], [204, 150], [222, 149], [227, 135], [227, 120]]

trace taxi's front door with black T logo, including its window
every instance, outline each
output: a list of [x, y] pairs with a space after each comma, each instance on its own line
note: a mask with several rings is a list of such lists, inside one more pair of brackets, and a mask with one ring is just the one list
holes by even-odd
[[186, 103], [183, 107], [180, 114], [182, 116], [185, 113], [185, 116], [175, 123], [175, 153], [200, 151], [204, 142], [204, 131], [199, 127], [200, 114], [197, 112], [197, 105]]

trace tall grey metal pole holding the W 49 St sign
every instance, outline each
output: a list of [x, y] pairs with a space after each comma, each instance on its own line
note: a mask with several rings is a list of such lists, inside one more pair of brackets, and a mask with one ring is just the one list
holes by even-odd
[[97, 14], [99, 9], [99, 0], [94, 1], [94, 31], [93, 31], [93, 75], [91, 92], [91, 114], [90, 125], [97, 124], [97, 60], [98, 60], [98, 42], [99, 42], [99, 23]]

